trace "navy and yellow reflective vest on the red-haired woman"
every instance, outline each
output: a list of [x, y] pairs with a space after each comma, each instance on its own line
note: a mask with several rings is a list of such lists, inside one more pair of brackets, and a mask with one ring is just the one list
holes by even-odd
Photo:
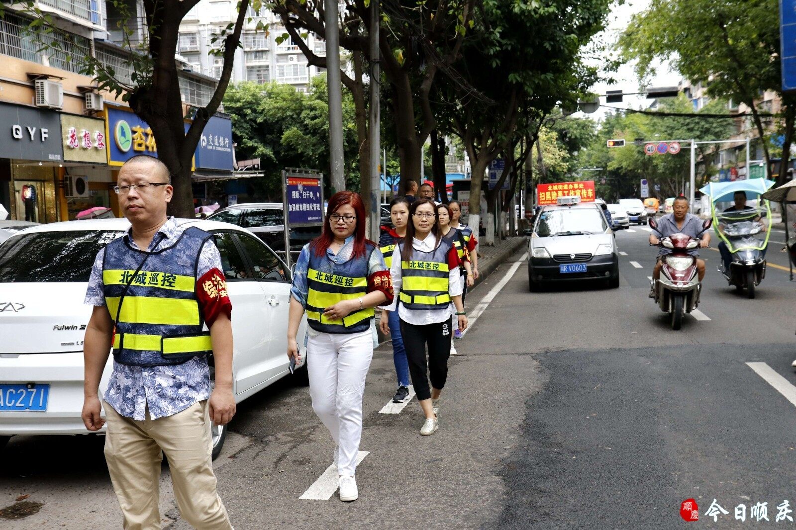
[[369, 329], [373, 319], [373, 307], [353, 311], [340, 320], [329, 320], [323, 316], [326, 307], [342, 300], [353, 300], [368, 292], [368, 264], [370, 255], [377, 247], [365, 243], [365, 255], [352, 258], [345, 263], [334, 263], [326, 251], [315, 255], [311, 248], [309, 270], [306, 272], [306, 323], [310, 328], [323, 333], [360, 333]]

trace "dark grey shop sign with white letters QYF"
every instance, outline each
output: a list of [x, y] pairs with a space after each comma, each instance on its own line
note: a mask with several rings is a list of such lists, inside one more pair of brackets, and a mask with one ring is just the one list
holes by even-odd
[[63, 162], [59, 115], [55, 111], [0, 103], [0, 158]]

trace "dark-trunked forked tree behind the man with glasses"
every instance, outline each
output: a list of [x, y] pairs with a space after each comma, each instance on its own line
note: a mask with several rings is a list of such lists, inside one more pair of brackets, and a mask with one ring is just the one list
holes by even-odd
[[[262, 0], [240, 0], [236, 21], [221, 29], [213, 37], [213, 53], [223, 58], [224, 66], [213, 96], [204, 107], [193, 108], [187, 117], [191, 124], [185, 131], [185, 109], [183, 107], [177, 62], [177, 43], [180, 22], [200, 0], [142, 0], [146, 35], [142, 42], [135, 42], [136, 2], [129, 0], [110, 0], [121, 17], [116, 22], [125, 35], [125, 48], [129, 54], [123, 65], [131, 71], [130, 80], [122, 80], [117, 72], [89, 51], [83, 57], [68, 56], [68, 60], [83, 65], [81, 73], [92, 76], [97, 88], [115, 94], [130, 105], [152, 128], [158, 146], [158, 158], [169, 168], [174, 198], [169, 212], [175, 216], [193, 216], [193, 193], [191, 188], [193, 153], [201, 138], [201, 133], [209, 119], [218, 110], [226, 92], [235, 50], [240, 45], [240, 33], [247, 19], [246, 12], [251, 5], [259, 10]], [[28, 32], [42, 49], [59, 49], [60, 39], [49, 38], [59, 32], [53, 19], [42, 11], [37, 2], [22, 0], [9, 3], [31, 18]], [[0, 7], [2, 9], [2, 7]], [[264, 29], [260, 27], [259, 29]]]

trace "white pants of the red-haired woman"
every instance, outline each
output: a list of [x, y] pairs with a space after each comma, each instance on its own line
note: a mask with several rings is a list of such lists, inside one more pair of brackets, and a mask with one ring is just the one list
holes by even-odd
[[307, 373], [312, 407], [338, 446], [340, 475], [353, 476], [362, 436], [362, 396], [373, 358], [370, 329], [361, 333], [310, 332]]

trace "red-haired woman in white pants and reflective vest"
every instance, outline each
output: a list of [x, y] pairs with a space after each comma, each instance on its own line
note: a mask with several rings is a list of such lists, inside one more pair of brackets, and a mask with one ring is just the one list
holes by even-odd
[[357, 193], [335, 193], [323, 232], [298, 255], [287, 324], [287, 357], [301, 362], [296, 333], [306, 312], [310, 396], [334, 439], [340, 500], [359, 497], [354, 470], [362, 435], [362, 395], [373, 357], [373, 307], [392, 302], [390, 273], [365, 239], [365, 205]]

